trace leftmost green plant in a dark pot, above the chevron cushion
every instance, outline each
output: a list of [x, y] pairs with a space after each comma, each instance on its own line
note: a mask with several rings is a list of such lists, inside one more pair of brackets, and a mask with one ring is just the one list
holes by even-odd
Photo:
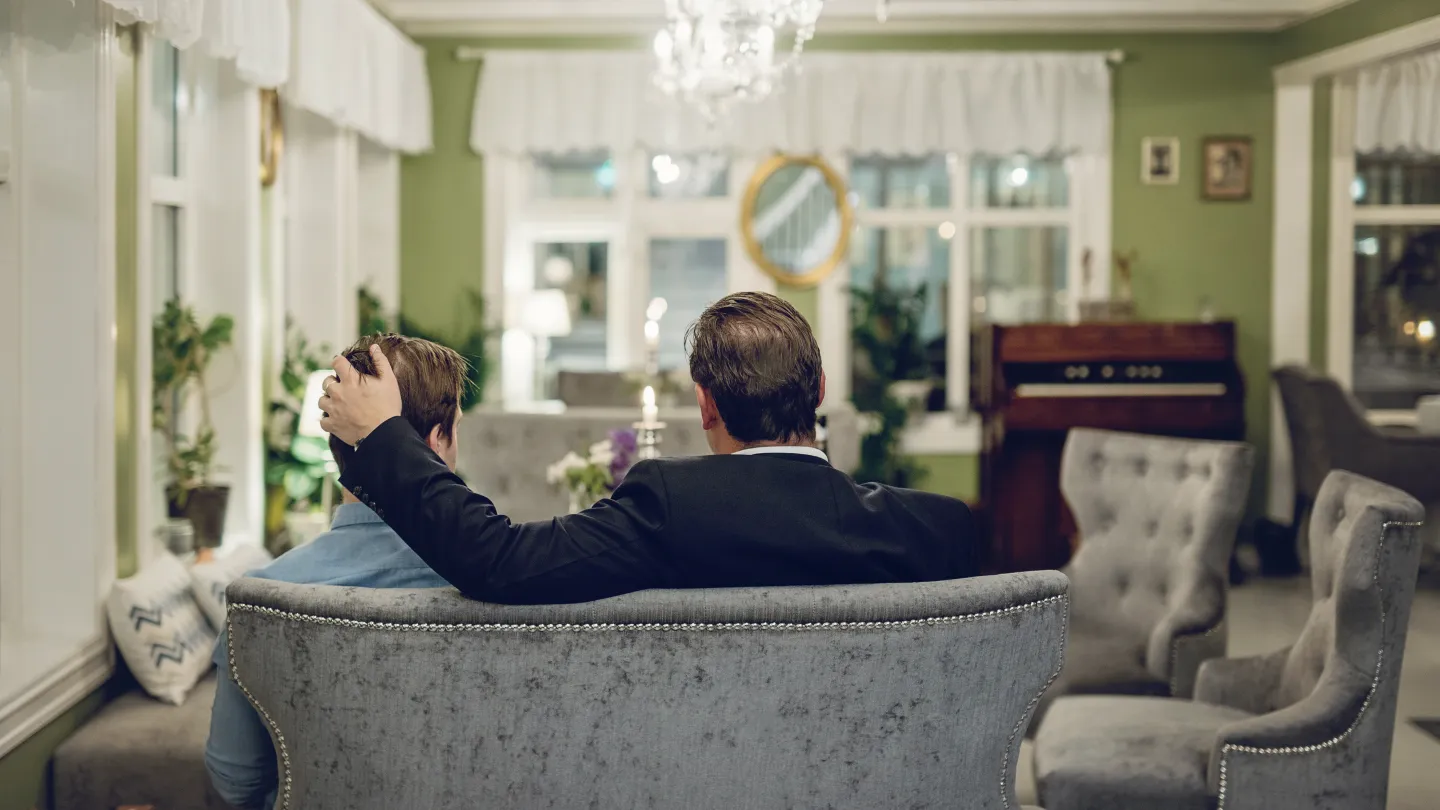
[[[166, 301], [154, 323], [154, 427], [166, 441], [166, 502], [171, 517], [194, 525], [196, 545], [216, 548], [225, 528], [230, 487], [212, 480], [215, 427], [204, 372], [215, 353], [230, 344], [235, 319], [215, 316], [200, 324], [194, 310], [179, 300]], [[193, 431], [181, 425], [186, 405], [199, 399]]]

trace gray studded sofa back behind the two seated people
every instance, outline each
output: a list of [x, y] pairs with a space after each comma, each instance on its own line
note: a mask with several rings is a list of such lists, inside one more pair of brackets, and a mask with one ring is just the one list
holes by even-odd
[[498, 607], [242, 579], [276, 810], [1015, 809], [1058, 572]]

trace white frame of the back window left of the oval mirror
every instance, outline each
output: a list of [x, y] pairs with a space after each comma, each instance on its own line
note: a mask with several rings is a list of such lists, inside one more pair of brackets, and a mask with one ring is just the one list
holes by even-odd
[[[554, 242], [606, 242], [606, 363], [612, 370], [638, 369], [645, 362], [644, 313], [649, 303], [649, 242], [652, 239], [724, 239], [729, 293], [775, 293], [775, 281], [746, 258], [740, 238], [740, 199], [756, 166], [732, 156], [729, 186], [716, 197], [651, 197], [651, 156], [644, 150], [611, 154], [615, 187], [606, 197], [541, 197], [534, 193], [534, 163], [528, 156], [487, 157], [485, 298], [503, 313], [500, 398], [507, 408], [553, 408], [534, 398], [533, 359], [516, 349], [528, 340], [517, 324], [513, 295], [534, 284], [534, 249]], [[524, 362], [528, 368], [517, 370]], [[508, 366], [508, 370], [507, 370]], [[491, 393], [497, 393], [492, 391]]]

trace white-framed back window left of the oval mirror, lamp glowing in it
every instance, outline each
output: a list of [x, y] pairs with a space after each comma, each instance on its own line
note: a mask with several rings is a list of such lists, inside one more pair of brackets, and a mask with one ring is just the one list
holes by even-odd
[[[533, 154], [492, 159], [490, 226], [503, 218], [501, 393], [553, 404], [560, 373], [645, 368], [645, 310], [665, 298], [660, 368], [684, 370], [684, 334], [734, 290], [773, 290], [743, 259], [739, 179], [720, 153]], [[497, 284], [498, 282], [498, 284]]]

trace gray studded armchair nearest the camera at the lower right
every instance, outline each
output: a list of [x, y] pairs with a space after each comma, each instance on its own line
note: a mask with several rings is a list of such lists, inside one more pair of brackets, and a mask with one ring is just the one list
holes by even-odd
[[1408, 494], [1332, 473], [1295, 646], [1204, 664], [1195, 700], [1066, 698], [1035, 738], [1048, 810], [1382, 810], [1416, 591]]

